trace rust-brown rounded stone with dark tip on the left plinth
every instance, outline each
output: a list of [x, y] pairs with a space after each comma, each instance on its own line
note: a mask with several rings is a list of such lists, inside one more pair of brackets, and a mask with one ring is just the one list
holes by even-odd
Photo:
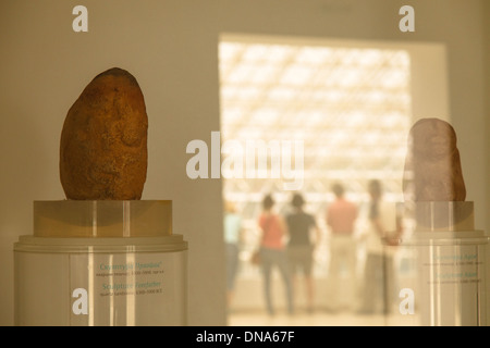
[[97, 75], [70, 108], [61, 133], [60, 178], [68, 199], [140, 199], [147, 171], [145, 100], [128, 72]]

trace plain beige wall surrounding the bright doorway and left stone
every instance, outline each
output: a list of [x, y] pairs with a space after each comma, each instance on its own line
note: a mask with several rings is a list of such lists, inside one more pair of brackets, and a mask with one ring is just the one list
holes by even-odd
[[[189, 241], [191, 324], [225, 323], [221, 183], [191, 181], [185, 174], [187, 142], [209, 141], [210, 132], [219, 129], [217, 44], [222, 33], [445, 45], [449, 111], [460, 138], [467, 199], [475, 201], [477, 227], [490, 229], [485, 1], [412, 0], [416, 32], [401, 33], [397, 12], [405, 2], [2, 1], [0, 324], [13, 322], [12, 244], [32, 233], [33, 200], [64, 197], [58, 151], [68, 109], [96, 74], [112, 66], [132, 72], [145, 95], [149, 165], [143, 199], [174, 201], [174, 229]], [[76, 4], [88, 9], [88, 33], [71, 28]]]

